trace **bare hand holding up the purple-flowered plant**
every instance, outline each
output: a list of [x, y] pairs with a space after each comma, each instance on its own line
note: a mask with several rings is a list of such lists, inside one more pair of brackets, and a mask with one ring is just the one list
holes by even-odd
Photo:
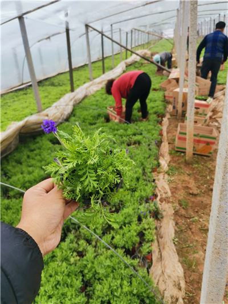
[[25, 192], [17, 228], [36, 241], [44, 256], [57, 247], [64, 219], [77, 208], [77, 202], [66, 203], [62, 191], [48, 178]]

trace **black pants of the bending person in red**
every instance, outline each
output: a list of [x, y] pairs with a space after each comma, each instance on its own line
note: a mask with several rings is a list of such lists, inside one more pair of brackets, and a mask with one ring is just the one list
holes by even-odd
[[132, 109], [139, 99], [142, 118], [147, 118], [147, 97], [150, 93], [151, 80], [147, 73], [140, 74], [131, 88], [126, 101], [125, 120], [131, 123]]

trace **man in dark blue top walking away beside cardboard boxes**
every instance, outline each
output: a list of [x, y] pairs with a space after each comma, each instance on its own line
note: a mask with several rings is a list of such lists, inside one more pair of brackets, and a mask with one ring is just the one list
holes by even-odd
[[223, 33], [225, 27], [226, 23], [223, 21], [216, 23], [215, 31], [203, 38], [196, 53], [196, 60], [199, 63], [200, 54], [202, 49], [205, 48], [201, 77], [207, 79], [208, 73], [211, 71], [211, 86], [209, 91], [209, 97], [211, 98], [215, 94], [220, 66], [227, 60], [228, 39]]

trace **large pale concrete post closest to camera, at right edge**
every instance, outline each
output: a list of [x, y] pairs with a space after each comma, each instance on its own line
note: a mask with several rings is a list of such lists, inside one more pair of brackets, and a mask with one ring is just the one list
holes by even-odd
[[228, 85], [223, 106], [223, 119], [219, 136], [219, 148], [213, 185], [211, 214], [200, 303], [222, 303], [225, 293], [228, 260]]

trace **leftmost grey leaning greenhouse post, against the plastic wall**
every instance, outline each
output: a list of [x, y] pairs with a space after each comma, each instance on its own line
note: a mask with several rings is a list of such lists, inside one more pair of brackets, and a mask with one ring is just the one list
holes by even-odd
[[32, 59], [32, 55], [31, 55], [30, 48], [29, 48], [29, 40], [28, 40], [28, 36], [27, 36], [25, 20], [24, 20], [24, 17], [19, 17], [18, 20], [19, 20], [26, 60], [27, 60], [28, 68], [29, 68], [29, 74], [30, 74], [30, 78], [32, 81], [33, 93], [34, 93], [35, 99], [36, 99], [37, 111], [41, 112], [42, 106], [41, 106], [40, 94], [39, 94], [39, 89], [38, 89], [38, 85], [37, 85], [37, 81], [36, 81], [36, 74], [35, 74], [34, 67], [33, 67], [33, 59]]

